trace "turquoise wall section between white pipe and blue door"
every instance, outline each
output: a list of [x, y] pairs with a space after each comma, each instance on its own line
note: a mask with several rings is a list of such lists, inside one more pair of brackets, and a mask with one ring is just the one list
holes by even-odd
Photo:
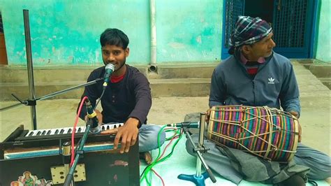
[[157, 61], [215, 62], [221, 59], [222, 1], [157, 2]]

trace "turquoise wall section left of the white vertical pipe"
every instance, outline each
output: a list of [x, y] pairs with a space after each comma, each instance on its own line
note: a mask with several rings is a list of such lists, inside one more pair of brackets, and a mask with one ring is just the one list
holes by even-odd
[[[125, 6], [124, 6], [125, 5]], [[2, 1], [8, 64], [27, 64], [23, 9], [29, 10], [36, 65], [101, 64], [99, 37], [108, 27], [131, 39], [128, 62], [149, 61], [149, 3], [121, 1]]]

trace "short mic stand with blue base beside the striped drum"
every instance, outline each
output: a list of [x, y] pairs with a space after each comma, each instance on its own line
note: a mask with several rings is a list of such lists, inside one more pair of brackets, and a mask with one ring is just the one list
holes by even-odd
[[[187, 174], [179, 174], [177, 178], [181, 180], [188, 180], [193, 183], [195, 183], [198, 186], [205, 186], [205, 179], [210, 178], [213, 183], [216, 183], [216, 179], [214, 177], [214, 174], [212, 171], [209, 169], [208, 165], [205, 162], [205, 159], [203, 159], [203, 155], [201, 154], [202, 152], [207, 152], [207, 148], [203, 146], [203, 132], [205, 131], [205, 113], [200, 113], [200, 131], [199, 131], [199, 143], [198, 147], [196, 144], [193, 142], [193, 139], [191, 138], [191, 135], [189, 134], [189, 129], [187, 127], [183, 127], [183, 130], [185, 132], [186, 137], [189, 139], [193, 146], [193, 151], [196, 152], [197, 154], [197, 159], [196, 159], [196, 174], [195, 175], [187, 175]], [[206, 169], [205, 173], [201, 174], [201, 164]]]

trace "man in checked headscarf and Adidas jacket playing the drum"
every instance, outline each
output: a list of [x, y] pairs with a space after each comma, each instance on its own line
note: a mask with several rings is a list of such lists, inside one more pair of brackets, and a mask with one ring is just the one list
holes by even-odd
[[[272, 35], [272, 28], [265, 20], [259, 17], [238, 17], [229, 41], [228, 52], [231, 56], [216, 66], [212, 74], [207, 120], [212, 106], [232, 105], [283, 108], [295, 117], [300, 117], [299, 90], [293, 66], [289, 59], [272, 50], [276, 45]], [[237, 184], [248, 177], [241, 171], [243, 167], [238, 171], [238, 168], [230, 164], [230, 156], [222, 153], [221, 148], [210, 141], [205, 141], [205, 145], [211, 149], [205, 153], [205, 159], [214, 171]], [[192, 153], [189, 143], [186, 143], [186, 148]], [[273, 161], [271, 166], [274, 166]], [[297, 145], [295, 157], [287, 163], [287, 167], [281, 163], [277, 166], [279, 175], [280, 170], [285, 170], [287, 176], [280, 180], [272, 178], [273, 176], [267, 177], [269, 180], [251, 180], [278, 185], [305, 185], [307, 169], [304, 171], [304, 166], [310, 169], [307, 173], [309, 180], [330, 177], [330, 157], [301, 143]], [[300, 167], [301, 171], [290, 173], [290, 169], [295, 167]], [[251, 168], [251, 172], [263, 171], [265, 170]], [[270, 171], [266, 175], [269, 173]]]

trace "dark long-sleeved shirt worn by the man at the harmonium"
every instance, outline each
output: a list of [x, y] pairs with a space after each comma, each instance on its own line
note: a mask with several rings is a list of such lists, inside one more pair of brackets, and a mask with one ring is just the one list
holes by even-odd
[[[146, 124], [149, 109], [152, 106], [151, 89], [147, 78], [133, 66], [126, 65], [126, 74], [118, 83], [108, 83], [105, 93], [101, 98], [103, 108], [103, 123], [126, 122], [128, 117], [135, 117], [140, 124]], [[103, 78], [105, 67], [95, 69], [89, 75], [87, 82]], [[85, 87], [81, 100], [87, 96], [92, 106], [103, 91], [103, 81]], [[84, 120], [87, 114], [85, 106], [82, 107], [80, 118]]]

